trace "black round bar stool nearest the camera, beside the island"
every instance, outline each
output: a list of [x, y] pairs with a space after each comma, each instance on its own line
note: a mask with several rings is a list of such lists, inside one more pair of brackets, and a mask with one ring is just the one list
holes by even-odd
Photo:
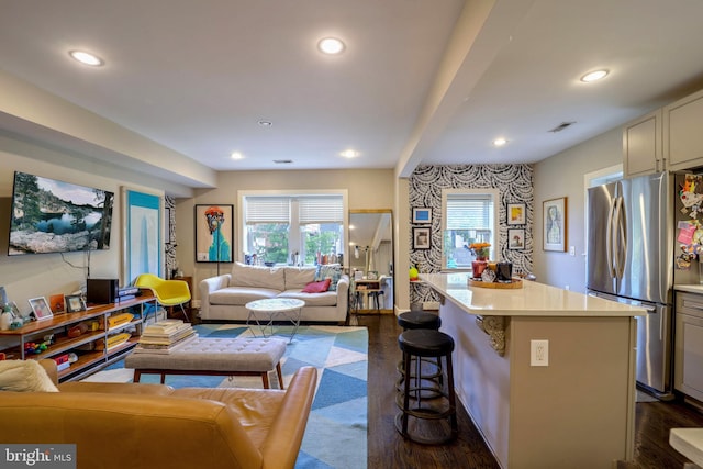
[[[423, 379], [421, 367], [420, 375], [404, 380], [403, 389], [395, 399], [400, 407], [395, 428], [404, 438], [415, 443], [436, 445], [455, 439], [458, 426], [451, 365], [454, 339], [439, 331], [409, 330], [398, 337], [398, 345], [403, 353], [406, 377], [411, 376], [413, 358], [436, 358], [438, 362], [444, 358], [447, 379], [445, 386], [437, 390], [435, 381], [428, 386]], [[426, 397], [423, 391], [429, 391], [432, 397]]]

